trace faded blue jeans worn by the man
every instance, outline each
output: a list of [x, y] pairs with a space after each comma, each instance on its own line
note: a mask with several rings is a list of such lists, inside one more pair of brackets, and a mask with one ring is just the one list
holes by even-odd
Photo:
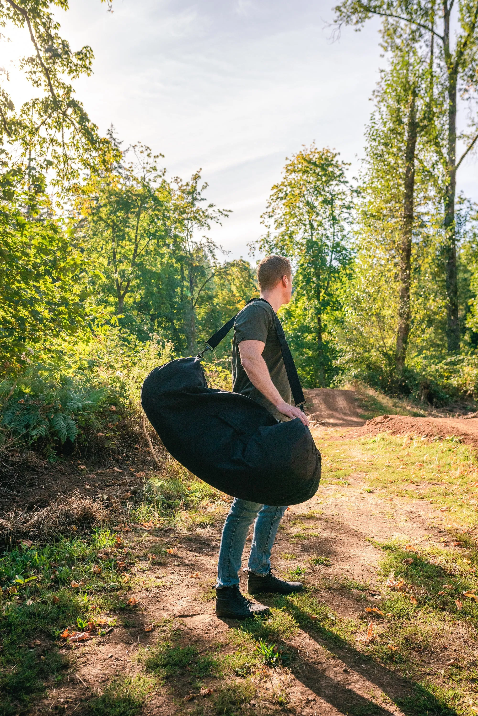
[[234, 498], [234, 502], [222, 528], [216, 589], [239, 584], [242, 551], [249, 526], [254, 523], [251, 553], [247, 563], [254, 574], [265, 576], [270, 571], [270, 555], [279, 522], [286, 507], [269, 507], [257, 502]]

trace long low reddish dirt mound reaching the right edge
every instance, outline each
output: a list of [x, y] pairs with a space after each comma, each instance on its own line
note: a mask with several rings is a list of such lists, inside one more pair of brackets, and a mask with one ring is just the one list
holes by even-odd
[[454, 417], [408, 417], [404, 415], [379, 415], [367, 420], [365, 425], [348, 432], [347, 437], [378, 435], [420, 435], [421, 437], [459, 437], [467, 445], [478, 448], [478, 418], [463, 420]]

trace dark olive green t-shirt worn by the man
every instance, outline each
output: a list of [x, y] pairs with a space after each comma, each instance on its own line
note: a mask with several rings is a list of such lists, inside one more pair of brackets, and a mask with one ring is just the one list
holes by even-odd
[[290, 418], [282, 415], [262, 392], [254, 387], [241, 365], [239, 343], [241, 341], [262, 341], [265, 344], [262, 357], [266, 362], [269, 375], [279, 391], [282, 400], [292, 403], [289, 379], [285, 372], [282, 352], [275, 327], [274, 309], [266, 301], [253, 301], [244, 306], [234, 322], [234, 339], [232, 342], [232, 390], [252, 398], [269, 410], [277, 420], [284, 422]]

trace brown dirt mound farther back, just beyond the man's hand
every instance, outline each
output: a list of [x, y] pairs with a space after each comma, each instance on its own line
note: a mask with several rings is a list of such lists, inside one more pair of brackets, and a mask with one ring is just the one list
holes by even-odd
[[312, 420], [330, 427], [363, 425], [356, 403], [355, 390], [312, 388], [304, 391], [305, 408]]

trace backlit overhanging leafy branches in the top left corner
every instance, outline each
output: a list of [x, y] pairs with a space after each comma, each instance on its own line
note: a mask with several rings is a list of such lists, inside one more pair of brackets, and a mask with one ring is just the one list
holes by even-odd
[[70, 49], [50, 11], [54, 6], [68, 9], [67, 0], [0, 1], [1, 26], [24, 29], [32, 43], [32, 55], [21, 59], [20, 69], [40, 92], [16, 110], [6, 89], [0, 89], [0, 140], [20, 148], [16, 163], [25, 170], [32, 164], [43, 170], [53, 168], [51, 183], [61, 193], [101, 142], [97, 127], [68, 82], [91, 74], [92, 50]]

